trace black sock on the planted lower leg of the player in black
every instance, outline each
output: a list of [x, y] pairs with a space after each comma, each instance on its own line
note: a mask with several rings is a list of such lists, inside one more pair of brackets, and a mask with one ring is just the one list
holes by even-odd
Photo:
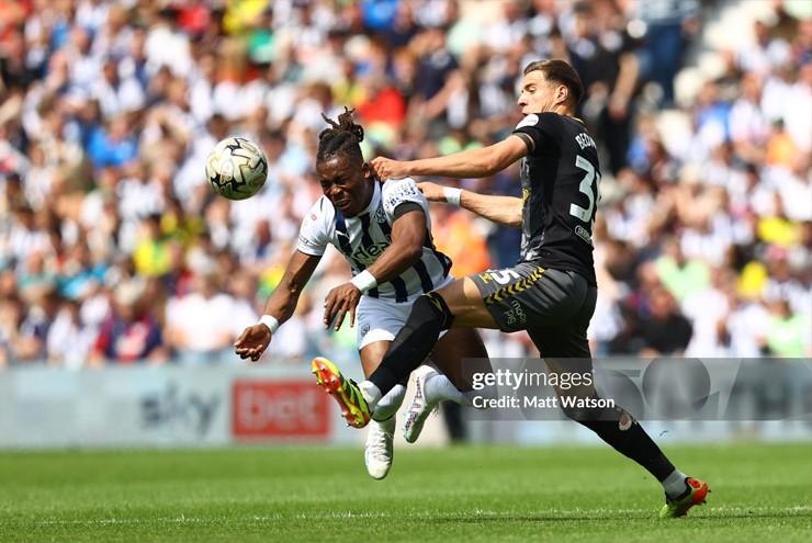
[[620, 454], [643, 466], [658, 482], [662, 483], [674, 472], [674, 464], [622, 407], [596, 407], [578, 411], [565, 409], [565, 412], [597, 433]]

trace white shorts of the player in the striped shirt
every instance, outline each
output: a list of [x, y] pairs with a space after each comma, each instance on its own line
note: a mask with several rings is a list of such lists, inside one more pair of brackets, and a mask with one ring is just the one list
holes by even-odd
[[[437, 289], [453, 282], [454, 278], [449, 275]], [[395, 335], [406, 324], [415, 299], [417, 299], [417, 296], [409, 302], [397, 304], [394, 299], [361, 296], [361, 302], [358, 303], [358, 309], [356, 310], [358, 350], [360, 351], [376, 341], [392, 341], [395, 339]], [[443, 331], [440, 337], [444, 335]]]

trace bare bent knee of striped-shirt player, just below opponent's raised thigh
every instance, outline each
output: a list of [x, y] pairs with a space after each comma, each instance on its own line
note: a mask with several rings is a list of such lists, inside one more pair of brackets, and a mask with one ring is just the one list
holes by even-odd
[[475, 328], [452, 328], [435, 346], [431, 362], [462, 392], [472, 389], [474, 373], [493, 373], [482, 336]]

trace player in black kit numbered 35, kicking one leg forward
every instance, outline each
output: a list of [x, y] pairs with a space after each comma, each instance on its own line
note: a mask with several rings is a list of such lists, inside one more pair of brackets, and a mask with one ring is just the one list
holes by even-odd
[[[512, 268], [469, 275], [421, 296], [379, 369], [360, 385], [325, 359], [314, 360], [319, 384], [338, 400], [352, 426], [365, 425], [382, 395], [420, 365], [440, 332], [452, 327], [527, 330], [551, 375], [591, 371], [586, 331], [597, 297], [591, 234], [600, 168], [595, 142], [574, 117], [583, 92], [567, 63], [534, 61], [525, 69], [518, 100], [523, 120], [503, 142], [438, 158], [372, 161], [380, 179], [398, 179], [483, 178], [521, 160], [521, 199], [421, 184], [429, 201], [461, 205], [495, 223], [522, 228], [521, 258]], [[708, 485], [676, 470], [625, 410], [599, 407], [604, 403], [591, 382], [568, 391], [556, 387], [556, 393], [583, 399], [586, 407], [565, 408], [566, 416], [663, 484], [666, 504], [661, 518], [683, 517], [704, 502]]]

